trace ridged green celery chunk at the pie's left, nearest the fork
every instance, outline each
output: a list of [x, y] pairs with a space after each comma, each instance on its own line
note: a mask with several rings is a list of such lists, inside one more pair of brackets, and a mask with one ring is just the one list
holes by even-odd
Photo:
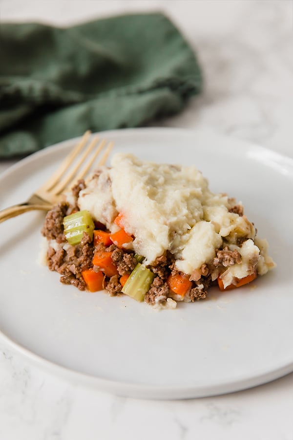
[[69, 244], [75, 245], [82, 241], [84, 232], [86, 232], [91, 240], [95, 225], [88, 211], [78, 211], [63, 219], [64, 235]]

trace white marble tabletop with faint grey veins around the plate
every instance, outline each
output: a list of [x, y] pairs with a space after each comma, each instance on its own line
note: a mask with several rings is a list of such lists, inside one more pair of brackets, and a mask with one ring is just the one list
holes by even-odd
[[[63, 25], [152, 9], [182, 29], [206, 78], [201, 97], [157, 125], [209, 126], [293, 157], [292, 1], [1, 0], [0, 20]], [[1, 440], [293, 440], [292, 414], [293, 374], [226, 396], [143, 401], [72, 384], [0, 343]]]

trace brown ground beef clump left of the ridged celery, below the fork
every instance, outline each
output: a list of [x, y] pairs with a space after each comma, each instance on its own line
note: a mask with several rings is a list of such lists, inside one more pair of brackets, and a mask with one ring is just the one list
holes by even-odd
[[57, 243], [65, 241], [63, 218], [67, 215], [68, 208], [68, 203], [61, 202], [48, 211], [41, 231], [48, 240], [56, 240]]

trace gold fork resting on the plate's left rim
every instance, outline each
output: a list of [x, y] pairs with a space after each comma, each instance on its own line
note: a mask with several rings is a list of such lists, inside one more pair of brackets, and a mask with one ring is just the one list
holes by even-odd
[[27, 211], [49, 211], [61, 199], [64, 191], [87, 175], [102, 150], [105, 151], [97, 166], [104, 165], [113, 148], [113, 142], [105, 139], [99, 141], [98, 136], [88, 142], [89, 136], [89, 131], [84, 133], [81, 141], [65, 157], [56, 172], [28, 200], [0, 211], [0, 223]]

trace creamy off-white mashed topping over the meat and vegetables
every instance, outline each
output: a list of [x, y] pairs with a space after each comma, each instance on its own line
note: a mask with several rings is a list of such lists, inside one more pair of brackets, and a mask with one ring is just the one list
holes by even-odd
[[224, 285], [233, 277], [245, 277], [251, 261], [260, 256], [262, 273], [273, 265], [266, 244], [261, 242], [259, 248], [253, 242], [255, 228], [239, 215], [241, 205], [235, 211], [234, 199], [209, 191], [207, 179], [193, 165], [158, 164], [116, 154], [111, 167], [98, 170], [80, 192], [78, 206], [111, 232], [117, 229], [115, 217], [122, 213], [124, 229], [134, 236], [131, 246], [145, 257], [145, 264], [168, 250], [177, 269], [191, 275], [212, 262], [225, 240], [242, 262], [223, 273]]

